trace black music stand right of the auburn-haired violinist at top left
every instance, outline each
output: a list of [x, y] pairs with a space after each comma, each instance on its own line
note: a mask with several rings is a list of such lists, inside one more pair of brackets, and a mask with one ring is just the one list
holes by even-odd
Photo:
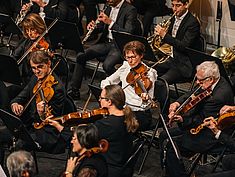
[[[47, 26], [53, 21], [52, 18], [45, 18]], [[84, 52], [78, 27], [75, 23], [59, 20], [48, 32], [52, 49], [71, 49]]]

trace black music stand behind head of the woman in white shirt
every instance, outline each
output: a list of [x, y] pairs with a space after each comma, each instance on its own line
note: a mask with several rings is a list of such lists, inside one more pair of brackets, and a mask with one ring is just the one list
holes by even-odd
[[112, 35], [113, 35], [113, 39], [115, 41], [115, 44], [118, 47], [118, 49], [121, 51], [121, 53], [123, 52], [123, 48], [126, 43], [128, 43], [130, 41], [140, 41], [145, 45], [146, 51], [144, 54], [144, 59], [150, 60], [153, 62], [157, 61], [157, 59], [153, 53], [152, 48], [149, 46], [147, 39], [145, 39], [144, 37], [132, 35], [132, 34], [126, 33], [126, 32], [118, 32], [118, 31], [112, 31]]

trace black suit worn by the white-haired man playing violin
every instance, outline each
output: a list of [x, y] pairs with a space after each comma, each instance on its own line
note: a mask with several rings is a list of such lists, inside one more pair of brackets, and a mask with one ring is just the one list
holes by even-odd
[[[177, 102], [182, 104], [183, 100], [188, 96], [189, 94], [183, 95]], [[219, 141], [214, 138], [214, 134], [209, 129], [205, 128], [197, 135], [192, 135], [189, 130], [200, 125], [203, 120], [209, 116], [217, 117], [217, 114], [224, 105], [231, 105], [232, 103], [233, 92], [231, 86], [221, 77], [213, 89], [212, 94], [186, 113], [186, 115], [183, 116], [183, 123], [178, 124], [180, 128], [179, 131], [181, 132], [176, 132], [177, 135], [181, 134], [181, 136], [176, 138], [175, 141], [182, 155], [207, 152], [211, 148], [220, 145]], [[171, 134], [171, 129], [169, 129], [169, 131]], [[170, 177], [187, 176], [183, 163], [176, 158], [170, 143], [167, 145], [166, 171]]]

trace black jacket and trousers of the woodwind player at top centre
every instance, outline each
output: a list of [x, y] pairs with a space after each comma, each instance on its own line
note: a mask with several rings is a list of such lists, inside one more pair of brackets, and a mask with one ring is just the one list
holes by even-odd
[[[111, 7], [108, 7], [105, 10], [105, 14], [109, 16], [110, 11]], [[137, 23], [136, 9], [127, 2], [124, 2], [120, 7], [116, 22], [111, 27], [111, 30], [135, 34], [138, 31], [136, 28]], [[114, 42], [108, 41], [107, 39], [108, 25], [99, 23], [97, 28], [94, 30], [94, 33], [101, 34], [98, 43], [90, 46], [85, 50], [85, 53], [80, 53], [77, 56], [77, 64], [71, 80], [73, 90], [79, 90], [81, 87], [86, 61], [94, 58], [103, 61], [103, 69], [108, 75], [115, 72], [114, 66], [116, 64], [123, 62], [121, 53], [116, 48]]]

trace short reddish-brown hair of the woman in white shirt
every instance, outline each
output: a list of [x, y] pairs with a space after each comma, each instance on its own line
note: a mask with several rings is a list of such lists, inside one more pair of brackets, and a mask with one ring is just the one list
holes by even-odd
[[144, 55], [145, 46], [139, 41], [128, 42], [123, 48], [123, 55], [125, 56], [128, 51], [135, 52], [137, 55]]

